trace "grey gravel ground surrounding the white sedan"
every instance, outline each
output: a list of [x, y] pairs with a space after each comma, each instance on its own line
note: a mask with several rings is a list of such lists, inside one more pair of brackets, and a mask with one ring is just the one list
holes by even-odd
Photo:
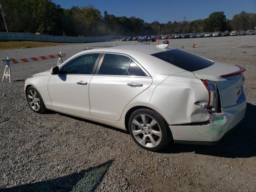
[[[0, 58], [60, 50], [68, 58], [87, 47], [113, 43], [132, 44], [2, 50]], [[17, 64], [12, 66], [14, 82], [0, 82], [2, 191], [255, 191], [256, 36], [174, 39], [170, 46], [246, 68], [246, 117], [230, 136], [214, 146], [169, 144], [149, 152], [122, 130], [57, 112], [36, 114], [24, 98], [23, 80], [50, 69], [57, 60]], [[2, 66], [1, 75], [3, 71]]]

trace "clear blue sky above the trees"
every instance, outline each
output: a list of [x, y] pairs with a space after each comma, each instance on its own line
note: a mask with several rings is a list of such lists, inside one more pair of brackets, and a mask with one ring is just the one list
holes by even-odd
[[207, 18], [212, 12], [224, 11], [226, 18], [242, 11], [256, 13], [256, 0], [52, 0], [62, 8], [91, 4], [101, 14], [106, 10], [115, 16], [135, 16], [146, 22], [160, 23]]

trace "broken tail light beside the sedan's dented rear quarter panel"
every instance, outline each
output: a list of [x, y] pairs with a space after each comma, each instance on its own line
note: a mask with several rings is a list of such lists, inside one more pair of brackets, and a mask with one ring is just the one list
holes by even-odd
[[207, 110], [211, 113], [221, 112], [220, 96], [216, 82], [210, 80], [202, 80], [202, 82], [209, 94], [208, 106], [206, 106]]

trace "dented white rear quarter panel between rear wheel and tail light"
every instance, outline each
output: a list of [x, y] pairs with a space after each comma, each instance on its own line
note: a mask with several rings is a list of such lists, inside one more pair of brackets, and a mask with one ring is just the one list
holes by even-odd
[[177, 76], [158, 84], [150, 98], [150, 104], [157, 106], [167, 123], [173, 125], [209, 120], [209, 112], [195, 102], [208, 102], [208, 91], [201, 80]]

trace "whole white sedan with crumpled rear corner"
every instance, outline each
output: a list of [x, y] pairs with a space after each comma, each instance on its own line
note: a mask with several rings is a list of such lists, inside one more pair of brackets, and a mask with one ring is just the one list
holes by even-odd
[[46, 109], [128, 130], [144, 149], [170, 141], [214, 144], [244, 118], [244, 68], [168, 45], [80, 52], [26, 79], [34, 112]]

